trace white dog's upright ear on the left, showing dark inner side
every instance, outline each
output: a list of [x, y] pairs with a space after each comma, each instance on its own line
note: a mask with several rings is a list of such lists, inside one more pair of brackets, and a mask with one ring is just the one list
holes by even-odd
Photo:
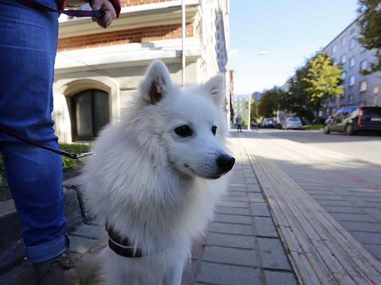
[[148, 104], [159, 102], [172, 88], [169, 71], [161, 61], [154, 61], [148, 67], [144, 80], [140, 83], [139, 91]]

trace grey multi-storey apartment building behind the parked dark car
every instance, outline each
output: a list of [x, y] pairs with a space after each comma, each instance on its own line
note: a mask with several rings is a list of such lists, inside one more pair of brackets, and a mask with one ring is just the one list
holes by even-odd
[[[360, 27], [357, 22], [352, 22], [323, 51], [333, 60], [334, 65], [339, 65], [342, 70], [344, 93], [340, 98], [331, 98], [322, 116], [334, 114], [344, 106], [375, 106], [373, 90], [381, 85], [381, 72], [362, 75], [360, 71], [367, 69], [370, 62], [376, 62], [374, 50], [364, 49], [357, 41]], [[381, 105], [381, 99], [378, 106]]]

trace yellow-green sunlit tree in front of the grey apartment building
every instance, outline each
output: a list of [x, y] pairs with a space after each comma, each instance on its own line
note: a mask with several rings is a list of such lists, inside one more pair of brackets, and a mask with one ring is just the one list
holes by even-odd
[[319, 53], [308, 61], [308, 73], [304, 80], [309, 83], [306, 91], [310, 94], [310, 105], [316, 112], [318, 121], [318, 112], [325, 106], [330, 97], [337, 98], [343, 93], [343, 86], [339, 85], [341, 81], [341, 69], [339, 66], [333, 66], [331, 57], [325, 53]]

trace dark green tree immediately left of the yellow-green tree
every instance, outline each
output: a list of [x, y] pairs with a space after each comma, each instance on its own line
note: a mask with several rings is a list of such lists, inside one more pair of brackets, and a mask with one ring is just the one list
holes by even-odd
[[308, 70], [311, 64], [307, 62], [305, 66], [299, 67], [295, 75], [288, 81], [288, 91], [279, 90], [279, 106], [281, 110], [295, 113], [296, 116], [311, 119], [313, 108], [311, 105], [311, 83], [306, 81]]

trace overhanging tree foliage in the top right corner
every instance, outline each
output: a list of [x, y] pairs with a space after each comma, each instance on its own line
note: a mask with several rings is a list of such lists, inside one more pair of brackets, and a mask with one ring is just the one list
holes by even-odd
[[364, 75], [381, 70], [381, 0], [358, 0], [358, 12], [362, 13], [357, 20], [360, 37], [357, 41], [367, 50], [376, 49], [377, 62], [370, 62], [369, 70], [362, 70]]

